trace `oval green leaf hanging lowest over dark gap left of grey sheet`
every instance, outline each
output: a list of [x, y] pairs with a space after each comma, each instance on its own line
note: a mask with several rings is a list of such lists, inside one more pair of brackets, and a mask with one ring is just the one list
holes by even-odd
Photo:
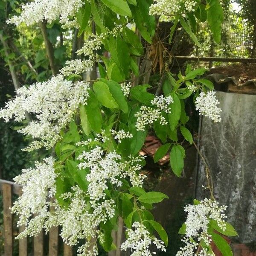
[[174, 145], [172, 147], [172, 150], [170, 153], [170, 163], [171, 163], [172, 171], [175, 173], [175, 175], [180, 177], [181, 172], [184, 168], [184, 159], [183, 159], [183, 153], [180, 151], [180, 148], [177, 145]]

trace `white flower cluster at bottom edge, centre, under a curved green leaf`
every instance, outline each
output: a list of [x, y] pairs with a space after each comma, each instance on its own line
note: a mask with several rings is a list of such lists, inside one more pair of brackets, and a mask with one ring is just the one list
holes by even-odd
[[153, 256], [156, 253], [151, 252], [148, 248], [153, 243], [156, 245], [158, 250], [163, 252], [166, 251], [163, 241], [150, 236], [149, 231], [143, 224], [139, 222], [134, 222], [132, 225], [134, 230], [127, 229], [128, 239], [122, 243], [121, 250], [127, 250], [128, 248], [132, 250], [131, 256]]

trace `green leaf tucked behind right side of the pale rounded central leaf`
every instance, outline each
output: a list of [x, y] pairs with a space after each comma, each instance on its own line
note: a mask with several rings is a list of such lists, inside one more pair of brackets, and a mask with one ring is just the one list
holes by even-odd
[[119, 108], [124, 112], [128, 112], [128, 105], [126, 97], [124, 96], [124, 93], [121, 90], [121, 85], [118, 84], [115, 81], [108, 81], [106, 79], [100, 79], [101, 81], [105, 82], [108, 85], [108, 88], [116, 101], [116, 103], [119, 105]]

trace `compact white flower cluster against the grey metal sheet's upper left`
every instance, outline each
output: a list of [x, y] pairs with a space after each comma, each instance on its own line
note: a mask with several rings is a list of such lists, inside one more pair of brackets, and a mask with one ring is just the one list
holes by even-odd
[[221, 122], [222, 110], [218, 108], [219, 104], [215, 91], [201, 92], [195, 100], [196, 110], [199, 111], [199, 114], [211, 118], [213, 122]]

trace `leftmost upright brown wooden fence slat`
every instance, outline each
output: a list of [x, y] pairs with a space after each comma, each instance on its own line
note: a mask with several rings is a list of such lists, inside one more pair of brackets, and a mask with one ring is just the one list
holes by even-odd
[[12, 185], [2, 184], [3, 191], [3, 228], [4, 228], [4, 255], [12, 256], [13, 251], [13, 229], [12, 229]]

